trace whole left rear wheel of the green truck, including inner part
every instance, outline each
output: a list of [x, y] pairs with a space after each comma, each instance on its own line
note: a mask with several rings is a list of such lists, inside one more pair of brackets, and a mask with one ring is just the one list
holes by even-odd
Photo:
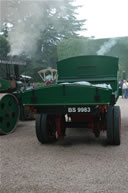
[[53, 115], [36, 115], [36, 136], [41, 143], [56, 141], [56, 119]]

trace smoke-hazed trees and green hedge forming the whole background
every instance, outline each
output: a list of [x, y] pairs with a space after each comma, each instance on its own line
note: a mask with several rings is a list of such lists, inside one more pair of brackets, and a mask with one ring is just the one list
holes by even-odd
[[[80, 31], [85, 30], [83, 26], [86, 20], [77, 19], [79, 6], [73, 4], [74, 0], [0, 2], [0, 31], [3, 32], [0, 35], [0, 57], [12, 53], [15, 57], [14, 51], [17, 51], [20, 60], [27, 63], [20, 72], [32, 76], [35, 81], [41, 81], [37, 73], [39, 70], [49, 66], [56, 68], [57, 60], [95, 55], [102, 45], [110, 41], [109, 38], [80, 37]], [[8, 4], [4, 5], [5, 2]], [[13, 25], [12, 28], [8, 28], [8, 22]], [[123, 71], [128, 79], [127, 53], [128, 37], [119, 37], [116, 44], [105, 53], [119, 57], [121, 79]]]

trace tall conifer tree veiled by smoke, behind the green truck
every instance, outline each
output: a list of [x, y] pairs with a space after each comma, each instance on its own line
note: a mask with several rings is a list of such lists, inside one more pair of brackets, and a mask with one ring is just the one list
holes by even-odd
[[78, 6], [73, 2], [9, 1], [6, 22], [13, 25], [9, 31], [11, 54], [31, 58], [28, 72], [32, 72], [32, 67], [35, 70], [39, 66], [55, 67], [58, 43], [78, 37], [79, 31], [83, 30], [85, 20], [77, 19]]

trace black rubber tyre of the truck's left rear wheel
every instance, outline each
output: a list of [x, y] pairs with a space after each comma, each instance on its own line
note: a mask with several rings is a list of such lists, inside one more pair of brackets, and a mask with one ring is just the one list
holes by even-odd
[[[48, 121], [55, 121], [54, 117], [47, 114], [36, 115], [36, 136], [40, 143], [51, 143], [56, 141], [56, 136], [49, 135]], [[55, 123], [55, 122], [54, 122]]]

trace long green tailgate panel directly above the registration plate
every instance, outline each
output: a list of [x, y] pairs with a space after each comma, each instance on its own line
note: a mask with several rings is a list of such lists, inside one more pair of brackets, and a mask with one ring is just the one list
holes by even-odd
[[111, 89], [98, 88], [99, 101], [95, 100], [96, 87], [82, 85], [53, 85], [34, 90], [35, 102], [32, 102], [33, 92], [22, 93], [24, 105], [95, 105], [109, 104]]

